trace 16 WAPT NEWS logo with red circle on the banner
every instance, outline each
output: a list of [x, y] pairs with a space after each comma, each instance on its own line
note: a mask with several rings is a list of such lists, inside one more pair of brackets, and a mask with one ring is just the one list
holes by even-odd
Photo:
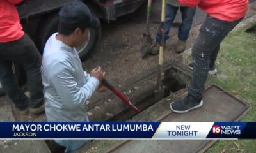
[[241, 126], [213, 126], [212, 133], [214, 135], [240, 135]]

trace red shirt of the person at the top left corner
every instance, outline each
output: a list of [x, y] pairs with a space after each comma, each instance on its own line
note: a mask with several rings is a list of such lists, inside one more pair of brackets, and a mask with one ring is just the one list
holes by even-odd
[[15, 4], [22, 0], [0, 0], [0, 43], [19, 40], [24, 36]]

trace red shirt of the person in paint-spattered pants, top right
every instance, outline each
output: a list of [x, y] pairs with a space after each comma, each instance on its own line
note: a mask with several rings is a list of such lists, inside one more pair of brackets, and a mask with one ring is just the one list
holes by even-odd
[[198, 6], [209, 16], [232, 22], [246, 14], [248, 0], [178, 0], [184, 6]]

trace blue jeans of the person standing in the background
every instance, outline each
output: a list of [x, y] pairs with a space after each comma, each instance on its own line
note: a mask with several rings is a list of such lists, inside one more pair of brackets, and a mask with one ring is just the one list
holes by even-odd
[[[186, 41], [188, 39], [189, 31], [192, 26], [193, 17], [195, 15], [196, 8], [190, 7], [175, 7], [170, 4], [166, 4], [166, 17], [165, 17], [165, 27], [164, 27], [164, 41], [168, 40], [169, 31], [173, 24], [173, 20], [177, 14], [177, 11], [180, 8], [182, 15], [182, 24], [179, 25], [179, 40]], [[161, 26], [159, 26], [156, 36], [157, 43], [161, 42]]]

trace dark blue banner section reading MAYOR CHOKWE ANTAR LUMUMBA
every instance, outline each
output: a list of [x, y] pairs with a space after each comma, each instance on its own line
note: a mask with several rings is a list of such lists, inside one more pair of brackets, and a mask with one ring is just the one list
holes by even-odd
[[0, 122], [0, 138], [152, 138], [160, 122]]

